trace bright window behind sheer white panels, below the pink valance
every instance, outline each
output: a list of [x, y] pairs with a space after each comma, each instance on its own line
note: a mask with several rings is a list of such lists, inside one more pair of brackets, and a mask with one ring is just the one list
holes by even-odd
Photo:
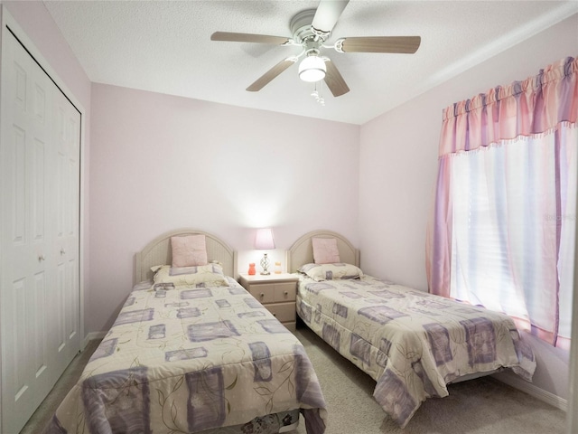
[[564, 131], [557, 145], [553, 131], [450, 157], [450, 297], [513, 316], [553, 344], [570, 338], [572, 317], [578, 137]]

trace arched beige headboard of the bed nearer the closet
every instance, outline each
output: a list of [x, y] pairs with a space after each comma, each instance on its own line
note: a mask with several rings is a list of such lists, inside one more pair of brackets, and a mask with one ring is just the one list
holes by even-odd
[[208, 232], [182, 229], [163, 233], [163, 235], [156, 237], [153, 241], [146, 244], [143, 250], [135, 254], [134, 283], [151, 280], [153, 278], [151, 267], [172, 264], [171, 237], [198, 234], [205, 236], [209, 262], [213, 260], [219, 261], [223, 265], [223, 271], [227, 276], [237, 278], [237, 251], [232, 250], [225, 241]]

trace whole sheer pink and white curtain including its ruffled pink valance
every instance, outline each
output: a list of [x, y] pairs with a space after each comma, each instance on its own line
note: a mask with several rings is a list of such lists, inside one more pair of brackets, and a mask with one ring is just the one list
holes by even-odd
[[578, 60], [443, 111], [430, 291], [513, 316], [567, 347], [572, 317]]

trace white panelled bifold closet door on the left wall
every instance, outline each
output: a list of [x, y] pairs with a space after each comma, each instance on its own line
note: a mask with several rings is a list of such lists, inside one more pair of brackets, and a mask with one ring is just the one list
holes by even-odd
[[79, 112], [2, 39], [2, 431], [17, 433], [79, 351]]

